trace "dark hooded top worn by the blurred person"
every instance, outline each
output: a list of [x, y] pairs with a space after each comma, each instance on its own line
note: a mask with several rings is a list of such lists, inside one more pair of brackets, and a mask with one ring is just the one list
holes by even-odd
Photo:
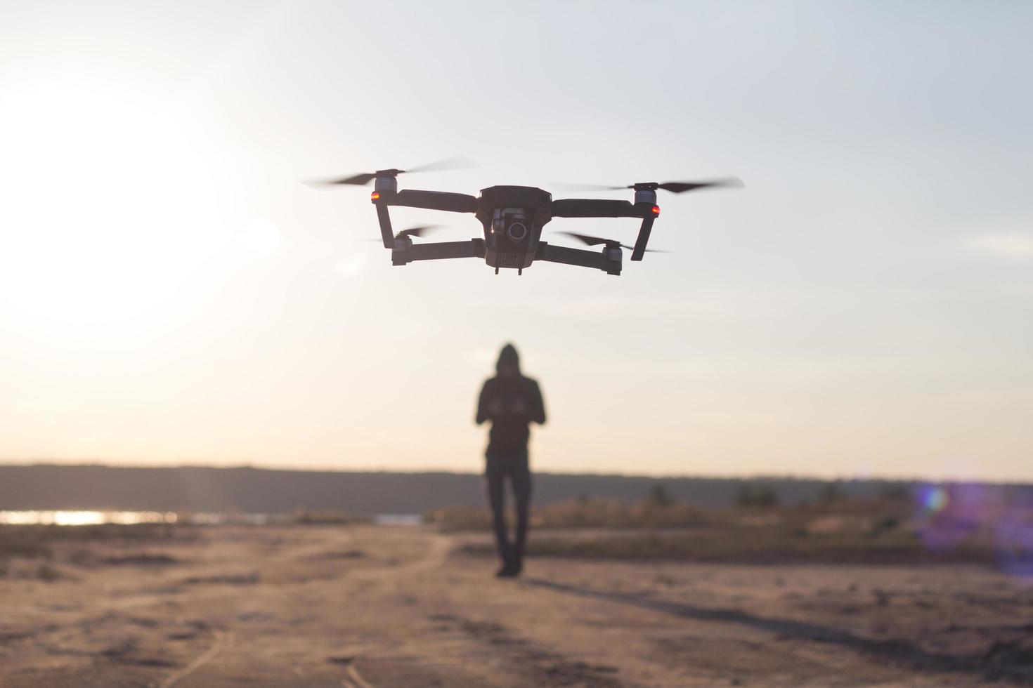
[[495, 369], [499, 370], [504, 365], [513, 366], [516, 374], [507, 376], [500, 373], [486, 381], [477, 402], [477, 425], [492, 421], [489, 456], [526, 453], [531, 434], [528, 426], [545, 422], [545, 405], [538, 383], [521, 374], [520, 356], [512, 345], [502, 348]]

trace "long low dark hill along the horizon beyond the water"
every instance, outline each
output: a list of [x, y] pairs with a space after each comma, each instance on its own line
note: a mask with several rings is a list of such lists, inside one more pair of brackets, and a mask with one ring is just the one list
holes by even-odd
[[[538, 504], [581, 495], [643, 499], [662, 483], [674, 499], [725, 506], [751, 484], [771, 487], [784, 504], [813, 500], [827, 482], [795, 478], [650, 478], [536, 473]], [[910, 482], [843, 481], [848, 495], [912, 489]], [[483, 503], [480, 476], [450, 472], [352, 472], [264, 468], [128, 468], [102, 465], [0, 465], [0, 511], [124, 510], [284, 513], [337, 510], [356, 515], [418, 514]]]

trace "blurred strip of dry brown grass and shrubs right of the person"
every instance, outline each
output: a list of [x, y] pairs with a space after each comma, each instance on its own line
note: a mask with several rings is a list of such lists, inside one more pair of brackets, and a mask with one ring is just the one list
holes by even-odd
[[[906, 494], [847, 498], [829, 491], [797, 506], [702, 510], [657, 499], [636, 504], [583, 498], [535, 510], [532, 556], [748, 563], [1001, 564], [1033, 572], [1033, 542], [1002, 538], [1001, 514], [971, 518], [916, 509]], [[1018, 516], [1016, 516], [1018, 514]], [[1012, 530], [1033, 533], [1033, 510], [1011, 512]], [[439, 510], [427, 516], [442, 531], [486, 531], [486, 510]], [[470, 554], [493, 554], [470, 542]]]

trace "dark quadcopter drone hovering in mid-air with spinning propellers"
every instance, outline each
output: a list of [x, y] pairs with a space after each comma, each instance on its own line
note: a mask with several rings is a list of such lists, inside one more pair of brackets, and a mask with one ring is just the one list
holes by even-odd
[[[675, 194], [713, 187], [742, 187], [737, 177], [702, 182], [639, 182], [627, 186], [597, 187], [580, 185], [581, 189], [599, 191], [633, 190], [634, 201], [559, 198], [535, 187], [497, 186], [480, 190], [480, 196], [470, 196], [445, 191], [418, 191], [398, 189], [398, 175], [406, 172], [426, 172], [439, 169], [470, 167], [465, 159], [447, 159], [408, 169], [380, 169], [362, 172], [339, 179], [321, 182], [323, 186], [367, 186], [373, 182], [370, 200], [377, 209], [380, 236], [388, 249], [392, 265], [408, 265], [417, 260], [446, 260], [451, 258], [481, 258], [498, 274], [500, 269], [524, 269], [535, 261], [577, 265], [602, 270], [607, 274], [621, 273], [622, 249], [631, 251], [631, 260], [640, 261], [646, 253], [653, 223], [660, 216], [656, 204], [658, 190]], [[436, 225], [412, 227], [398, 233], [392, 227], [389, 208], [394, 205], [419, 207], [446, 212], [471, 212], [483, 226], [483, 238], [466, 241], [413, 242]], [[636, 218], [641, 220], [634, 245], [614, 239], [600, 238], [573, 232], [565, 234], [598, 251], [571, 249], [541, 240], [541, 231], [554, 218]], [[662, 253], [662, 252], [660, 252]]]

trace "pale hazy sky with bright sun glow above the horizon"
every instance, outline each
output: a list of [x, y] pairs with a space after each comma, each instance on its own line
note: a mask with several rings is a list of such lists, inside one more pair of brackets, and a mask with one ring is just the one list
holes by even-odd
[[[539, 470], [1033, 481], [1030, 26], [1009, 2], [0, 4], [0, 461], [477, 471], [512, 341]], [[393, 267], [367, 190], [304, 184], [456, 155], [479, 167], [401, 188], [746, 188], [662, 194], [671, 253], [615, 277]]]

